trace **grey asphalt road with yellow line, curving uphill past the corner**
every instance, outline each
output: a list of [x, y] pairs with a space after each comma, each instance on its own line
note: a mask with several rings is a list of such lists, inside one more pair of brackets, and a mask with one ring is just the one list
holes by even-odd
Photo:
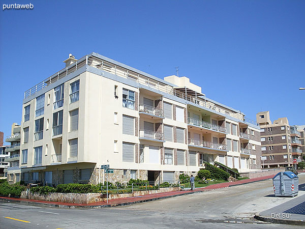
[[[305, 174], [299, 175], [303, 183]], [[267, 180], [113, 208], [59, 209], [3, 201], [0, 228], [299, 228], [253, 219], [290, 199], [275, 197], [272, 180]]]

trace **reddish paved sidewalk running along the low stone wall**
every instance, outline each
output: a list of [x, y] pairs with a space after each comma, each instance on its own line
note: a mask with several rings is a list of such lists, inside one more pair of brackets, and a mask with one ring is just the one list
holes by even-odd
[[38, 201], [35, 199], [22, 199], [22, 198], [14, 198], [14, 197], [1, 197], [0, 199], [10, 201], [10, 202], [18, 202], [24, 204], [31, 204], [31, 205], [40, 205], [45, 207], [59, 207], [59, 208], [77, 208], [77, 207], [84, 207], [84, 208], [97, 208], [97, 207], [114, 207], [114, 206], [122, 206], [122, 205], [130, 205], [130, 204], [138, 204], [148, 201], [156, 201], [157, 199], [175, 197], [180, 195], [187, 195], [192, 194], [194, 192], [203, 192], [212, 189], [219, 189], [219, 188], [226, 188], [235, 185], [242, 185], [242, 184], [249, 184], [253, 182], [268, 180], [273, 178], [274, 175], [267, 176], [267, 177], [260, 177], [260, 178], [253, 178], [253, 179], [245, 179], [236, 182], [226, 182], [220, 184], [212, 184], [203, 188], [195, 188], [195, 191], [171, 191], [171, 192], [163, 192], [163, 193], [156, 193], [156, 194], [149, 194], [149, 195], [142, 195], [142, 196], [132, 196], [132, 197], [125, 197], [125, 198], [117, 198], [111, 199], [106, 202], [104, 199], [103, 202], [96, 202], [92, 204], [73, 204], [73, 203], [62, 203], [62, 202], [50, 202], [50, 201]]

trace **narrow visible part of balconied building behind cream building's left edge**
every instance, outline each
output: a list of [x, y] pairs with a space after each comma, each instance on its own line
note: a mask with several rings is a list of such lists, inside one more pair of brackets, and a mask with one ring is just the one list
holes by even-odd
[[11, 143], [11, 146], [6, 147], [5, 149], [5, 152], [9, 153], [9, 155], [7, 155], [4, 160], [5, 162], [9, 162], [9, 167], [6, 169], [9, 183], [16, 183], [20, 181], [20, 128], [20, 125], [13, 123], [11, 135], [7, 136], [6, 138], [6, 142]]

